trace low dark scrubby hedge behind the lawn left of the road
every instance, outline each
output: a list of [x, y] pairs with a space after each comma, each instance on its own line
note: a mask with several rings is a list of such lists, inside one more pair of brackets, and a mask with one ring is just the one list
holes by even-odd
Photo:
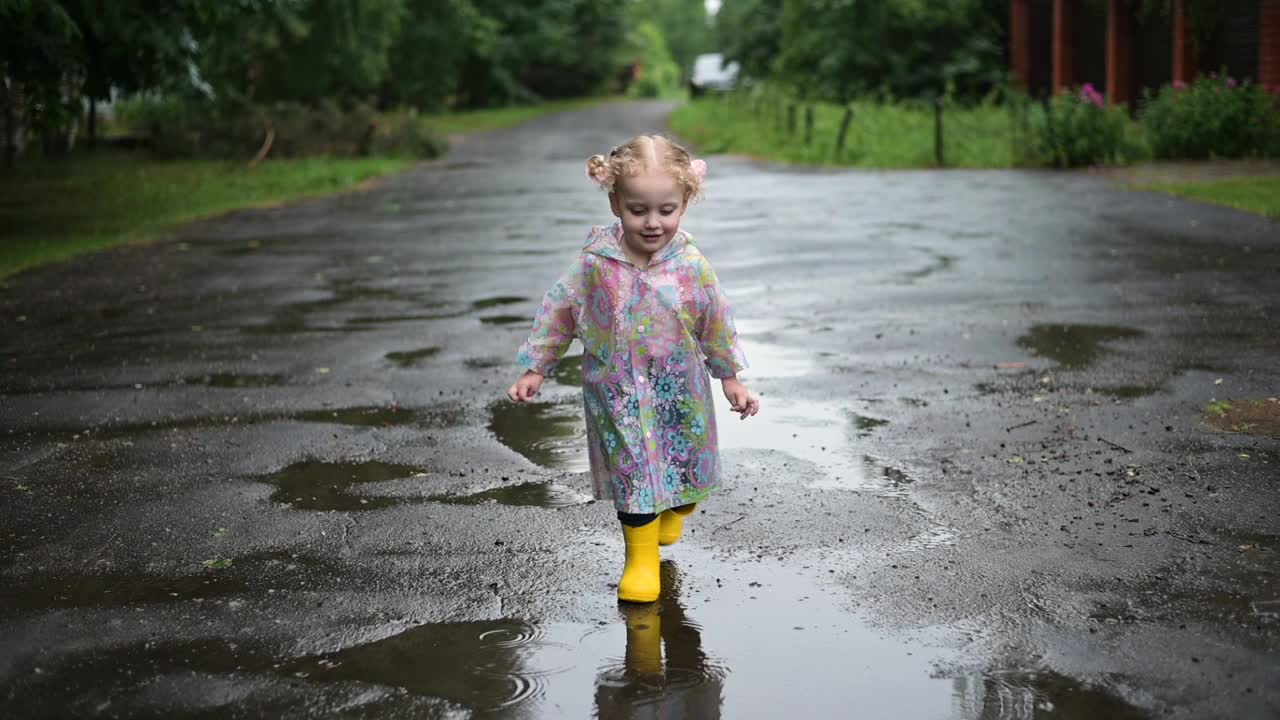
[[146, 136], [169, 158], [252, 158], [274, 129], [270, 156], [411, 155], [434, 158], [444, 142], [410, 113], [379, 114], [369, 105], [340, 108], [210, 104], [173, 99], [134, 99], [116, 108], [116, 122]]

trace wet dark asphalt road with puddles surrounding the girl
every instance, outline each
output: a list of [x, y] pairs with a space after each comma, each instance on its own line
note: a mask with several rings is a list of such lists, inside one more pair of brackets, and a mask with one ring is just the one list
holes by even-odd
[[620, 610], [572, 372], [500, 397], [667, 110], [6, 281], [0, 714], [1280, 714], [1280, 441], [1201, 418], [1280, 393], [1280, 225], [1084, 174], [712, 159], [763, 409]]

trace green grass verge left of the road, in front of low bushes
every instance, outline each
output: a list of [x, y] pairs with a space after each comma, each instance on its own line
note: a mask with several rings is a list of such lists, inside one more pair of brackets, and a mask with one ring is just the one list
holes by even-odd
[[0, 277], [72, 255], [154, 240], [237, 208], [346, 190], [410, 158], [298, 158], [244, 163], [93, 152], [31, 160], [0, 173]]

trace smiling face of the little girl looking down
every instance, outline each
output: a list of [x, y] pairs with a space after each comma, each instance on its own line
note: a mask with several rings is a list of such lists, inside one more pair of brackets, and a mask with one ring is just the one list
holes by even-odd
[[622, 245], [634, 260], [648, 264], [680, 229], [685, 191], [676, 178], [658, 168], [621, 178], [609, 193], [613, 214], [622, 220]]

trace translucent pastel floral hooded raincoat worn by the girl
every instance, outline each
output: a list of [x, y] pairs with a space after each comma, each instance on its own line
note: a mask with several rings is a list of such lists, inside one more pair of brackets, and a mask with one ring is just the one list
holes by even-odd
[[727, 378], [746, 361], [694, 238], [677, 232], [640, 269], [621, 223], [593, 228], [516, 361], [545, 375], [575, 337], [595, 497], [622, 512], [662, 512], [710, 495], [721, 468], [708, 370]]

